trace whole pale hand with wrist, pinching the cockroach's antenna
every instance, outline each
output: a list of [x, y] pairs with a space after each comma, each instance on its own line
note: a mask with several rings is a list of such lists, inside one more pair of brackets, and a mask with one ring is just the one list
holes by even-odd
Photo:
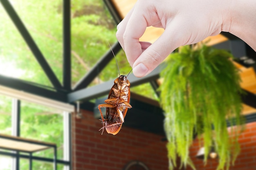
[[[164, 28], [140, 42], [147, 26]], [[173, 50], [229, 32], [256, 51], [256, 0], [138, 0], [117, 26], [117, 39], [137, 77], [148, 75]]]

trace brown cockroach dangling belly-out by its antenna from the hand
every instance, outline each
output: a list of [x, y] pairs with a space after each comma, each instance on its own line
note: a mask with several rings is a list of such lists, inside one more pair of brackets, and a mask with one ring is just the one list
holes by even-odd
[[[110, 46], [111, 48], [111, 46]], [[111, 49], [112, 50], [112, 49]], [[115, 54], [112, 51], [114, 57]], [[115, 57], [117, 62], [117, 59]], [[130, 74], [130, 71], [127, 76], [120, 75], [119, 66], [117, 63], [119, 77], [115, 79], [114, 85], [110, 89], [108, 99], [104, 102], [105, 104], [100, 104], [98, 106], [99, 112], [101, 113], [101, 121], [103, 124], [102, 133], [104, 128], [106, 131], [112, 135], [116, 135], [124, 123], [124, 117], [126, 116], [128, 108], [132, 108], [129, 104], [130, 102], [130, 82], [127, 79], [127, 76]], [[103, 117], [101, 108], [106, 107], [106, 118]], [[100, 129], [100, 130], [101, 130]]]

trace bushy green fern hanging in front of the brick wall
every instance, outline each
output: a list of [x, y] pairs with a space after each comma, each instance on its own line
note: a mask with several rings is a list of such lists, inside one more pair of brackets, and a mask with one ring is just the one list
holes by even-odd
[[217, 169], [229, 169], [238, 153], [239, 128], [232, 128], [235, 137], [229, 137], [227, 119], [231, 125], [241, 125], [240, 76], [224, 50], [202, 45], [192, 49], [183, 46], [171, 54], [162, 71], [160, 102], [165, 112], [165, 131], [170, 169], [176, 159], [184, 166], [195, 166], [189, 157], [193, 135], [204, 145], [204, 161], [213, 146], [218, 153]]

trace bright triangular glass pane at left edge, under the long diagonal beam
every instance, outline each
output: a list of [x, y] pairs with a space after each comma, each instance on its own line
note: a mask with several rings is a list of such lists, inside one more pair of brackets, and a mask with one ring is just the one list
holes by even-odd
[[[15, 2], [13, 4], [17, 5]], [[31, 15], [31, 13], [27, 15]], [[0, 4], [0, 18], [0, 37], [2, 40], [0, 41], [0, 74], [51, 86], [2, 4]]]

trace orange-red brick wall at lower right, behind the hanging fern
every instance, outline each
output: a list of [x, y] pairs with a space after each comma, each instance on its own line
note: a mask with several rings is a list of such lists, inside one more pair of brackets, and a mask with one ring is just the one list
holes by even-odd
[[[239, 137], [240, 155], [237, 157], [234, 166], [229, 170], [256, 170], [256, 122], [246, 125], [245, 131]], [[195, 155], [199, 150], [198, 140], [195, 139], [193, 146], [190, 148], [190, 156], [197, 170], [216, 170], [218, 165], [217, 159], [211, 159], [204, 166], [201, 159], [196, 159]], [[192, 170], [187, 167], [187, 170]]]

